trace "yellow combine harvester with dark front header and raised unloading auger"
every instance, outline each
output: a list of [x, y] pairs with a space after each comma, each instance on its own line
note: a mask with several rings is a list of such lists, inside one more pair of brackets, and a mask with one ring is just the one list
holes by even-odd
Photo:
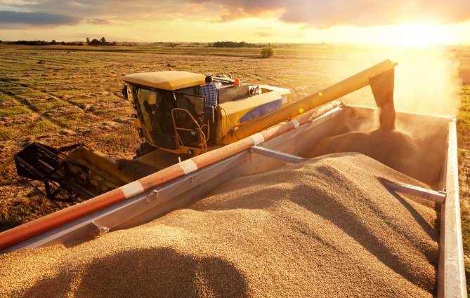
[[[43, 181], [49, 198], [64, 189], [69, 200], [77, 194], [91, 198], [292, 120], [370, 83], [379, 107], [393, 109], [394, 66], [386, 60], [297, 102], [292, 102], [289, 89], [215, 77], [221, 85], [216, 107], [204, 104], [200, 93], [206, 79], [203, 74], [130, 74], [123, 78], [123, 94], [135, 107], [134, 122], [141, 140], [132, 160], [114, 160], [86, 146], [67, 147], [65, 154], [61, 149], [32, 144], [16, 154], [17, 172]], [[388, 126], [393, 128], [393, 123]]]

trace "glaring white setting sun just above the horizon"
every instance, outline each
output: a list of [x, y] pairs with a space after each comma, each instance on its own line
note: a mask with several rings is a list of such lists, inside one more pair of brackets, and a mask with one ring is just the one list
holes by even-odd
[[397, 46], [431, 46], [449, 43], [443, 27], [418, 22], [401, 23], [391, 27], [389, 43]]

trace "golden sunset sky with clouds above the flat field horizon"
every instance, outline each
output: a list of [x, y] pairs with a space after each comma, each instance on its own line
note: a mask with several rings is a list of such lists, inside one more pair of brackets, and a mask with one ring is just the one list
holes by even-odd
[[470, 0], [0, 0], [0, 40], [470, 44]]

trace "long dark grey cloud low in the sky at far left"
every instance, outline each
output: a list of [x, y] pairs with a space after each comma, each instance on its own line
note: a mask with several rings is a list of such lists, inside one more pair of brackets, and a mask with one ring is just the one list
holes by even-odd
[[58, 13], [0, 11], [0, 23], [3, 24], [48, 26], [70, 25], [79, 21], [80, 18]]

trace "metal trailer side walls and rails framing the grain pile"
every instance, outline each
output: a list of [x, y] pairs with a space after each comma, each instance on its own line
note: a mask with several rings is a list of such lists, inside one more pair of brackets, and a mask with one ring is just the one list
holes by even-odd
[[[125, 229], [149, 222], [171, 210], [183, 208], [192, 201], [206, 196], [214, 187], [223, 182], [233, 180], [236, 177], [273, 170], [287, 162], [301, 162], [303, 158], [299, 156], [305, 156], [308, 149], [317, 140], [331, 135], [339, 123], [347, 121], [351, 114], [360, 112], [371, 116], [375, 110], [367, 107], [344, 107], [336, 104], [329, 106], [321, 113], [303, 114], [301, 118], [264, 130], [262, 133], [223, 147], [222, 150], [217, 149], [215, 152], [211, 151], [183, 161], [170, 171], [165, 169], [160, 173], [157, 172], [145, 177], [143, 180], [131, 182], [118, 190], [110, 191], [111, 194], [102, 195], [105, 198], [103, 201], [112, 201], [110, 205], [104, 205], [103, 208], [77, 218], [71, 217], [72, 219], [68, 222], [58, 224], [34, 236], [21, 239], [11, 245], [5, 245], [6, 241], [2, 240], [5, 232], [0, 233], [0, 245], [4, 245], [1, 252], [21, 248], [38, 248], [57, 243], [68, 245], [68, 243], [76, 243], [80, 239], [86, 240], [100, 236], [107, 231]], [[443, 156], [443, 168], [439, 181], [441, 191], [429, 193], [412, 187], [410, 189], [409, 186], [403, 184], [397, 184], [396, 190], [422, 191], [424, 196], [431, 195], [440, 201], [445, 200], [441, 203], [440, 214], [438, 297], [466, 297], [459, 212], [455, 118], [405, 112], [399, 112], [397, 116], [399, 119], [411, 118], [417, 122], [433, 121], [443, 130], [443, 146], [447, 146], [447, 149], [445, 156]], [[164, 172], [164, 175], [173, 176], [168, 181], [162, 182], [161, 172]], [[445, 191], [445, 198], [442, 198], [443, 191]], [[119, 194], [123, 194], [124, 198], [117, 200]], [[98, 204], [103, 204], [96, 198], [90, 201], [93, 202], [93, 200]], [[66, 212], [65, 214], [67, 215]], [[56, 217], [50, 218], [57, 221]], [[29, 224], [37, 225], [37, 221], [39, 219]], [[22, 229], [18, 230], [22, 231]]]

